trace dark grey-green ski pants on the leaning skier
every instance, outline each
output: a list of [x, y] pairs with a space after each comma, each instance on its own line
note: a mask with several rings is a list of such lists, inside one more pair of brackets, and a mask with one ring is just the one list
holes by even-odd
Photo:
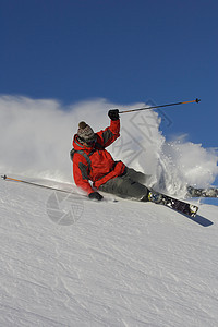
[[138, 201], [147, 201], [149, 190], [144, 183], [148, 178], [149, 175], [126, 167], [124, 174], [107, 181], [100, 185], [99, 191], [124, 198], [132, 197]]

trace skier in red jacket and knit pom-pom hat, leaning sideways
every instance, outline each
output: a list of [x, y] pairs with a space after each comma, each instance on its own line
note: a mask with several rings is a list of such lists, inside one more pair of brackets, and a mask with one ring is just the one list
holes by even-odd
[[92, 199], [102, 199], [99, 190], [121, 197], [148, 201], [149, 190], [144, 185], [147, 177], [122, 161], [114, 161], [106, 150], [120, 136], [119, 110], [109, 110], [108, 116], [110, 126], [98, 133], [94, 133], [85, 122], [78, 124], [71, 150], [75, 184]]

